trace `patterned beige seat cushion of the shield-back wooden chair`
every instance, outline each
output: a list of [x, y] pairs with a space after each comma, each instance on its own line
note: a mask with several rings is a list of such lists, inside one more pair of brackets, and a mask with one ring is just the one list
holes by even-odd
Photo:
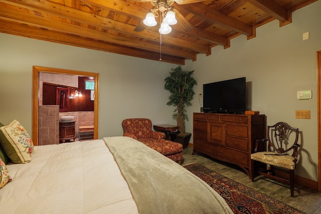
[[[266, 155], [268, 154], [268, 155]], [[278, 166], [286, 169], [294, 169], [295, 163], [293, 162], [294, 157], [290, 155], [275, 155], [275, 152], [257, 152], [251, 154], [251, 159], [267, 163], [273, 166]]]

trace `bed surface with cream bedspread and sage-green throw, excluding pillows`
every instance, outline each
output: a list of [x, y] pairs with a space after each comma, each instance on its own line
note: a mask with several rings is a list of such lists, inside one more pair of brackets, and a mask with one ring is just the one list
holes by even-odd
[[6, 165], [2, 213], [232, 213], [208, 184], [129, 137], [35, 146]]

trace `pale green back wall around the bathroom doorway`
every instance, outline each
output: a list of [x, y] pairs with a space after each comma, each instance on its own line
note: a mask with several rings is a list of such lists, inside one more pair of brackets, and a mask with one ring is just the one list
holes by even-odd
[[0, 34], [0, 121], [32, 132], [32, 66], [99, 73], [99, 138], [122, 135], [121, 121], [176, 124], [164, 79], [177, 65]]

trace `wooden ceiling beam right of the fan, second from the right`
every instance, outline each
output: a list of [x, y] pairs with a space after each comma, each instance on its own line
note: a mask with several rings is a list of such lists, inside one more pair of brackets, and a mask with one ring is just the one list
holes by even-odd
[[246, 36], [253, 35], [253, 28], [251, 26], [248, 26], [236, 19], [233, 19], [229, 16], [226, 16], [225, 14], [213, 10], [202, 3], [187, 4], [184, 6], [176, 4], [175, 7], [180, 8], [181, 10], [186, 10], [189, 13], [194, 14], [195, 16], [209, 20], [213, 23], [217, 23], [221, 26], [242, 33]]

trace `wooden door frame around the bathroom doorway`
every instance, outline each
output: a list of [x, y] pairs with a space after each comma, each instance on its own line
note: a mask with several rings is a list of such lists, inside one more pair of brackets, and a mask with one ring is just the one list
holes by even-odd
[[95, 100], [94, 100], [94, 139], [98, 139], [98, 83], [99, 74], [84, 71], [74, 71], [67, 69], [48, 68], [33, 66], [33, 84], [32, 84], [32, 141], [34, 145], [38, 145], [39, 138], [39, 73], [54, 73], [54, 74], [67, 74], [76, 76], [86, 76], [95, 78]]

